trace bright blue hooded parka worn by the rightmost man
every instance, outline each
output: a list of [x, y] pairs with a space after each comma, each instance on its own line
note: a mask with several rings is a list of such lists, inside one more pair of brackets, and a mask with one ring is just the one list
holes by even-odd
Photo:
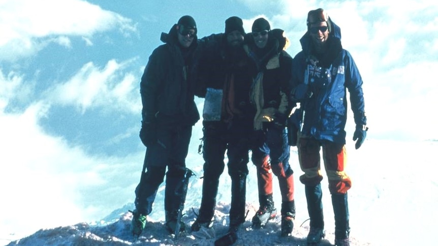
[[[362, 78], [351, 54], [341, 46], [340, 28], [330, 21], [329, 48], [323, 57], [313, 54], [308, 31], [300, 39], [302, 51], [293, 59], [291, 87], [295, 89], [290, 99], [300, 102], [302, 136], [345, 144], [347, 89], [356, 126], [366, 125]], [[305, 93], [298, 93], [303, 88]]]

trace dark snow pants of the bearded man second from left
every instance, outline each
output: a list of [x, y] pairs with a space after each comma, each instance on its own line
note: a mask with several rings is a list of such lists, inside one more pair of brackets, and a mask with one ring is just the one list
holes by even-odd
[[204, 180], [198, 220], [209, 222], [214, 215], [219, 178], [225, 169], [225, 153], [228, 157], [228, 174], [232, 181], [230, 222], [244, 221], [247, 163], [249, 162], [249, 136], [252, 127], [243, 119], [231, 123], [204, 121]]

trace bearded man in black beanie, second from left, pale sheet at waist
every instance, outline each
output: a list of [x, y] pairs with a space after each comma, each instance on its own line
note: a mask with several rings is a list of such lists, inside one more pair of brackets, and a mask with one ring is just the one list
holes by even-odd
[[232, 182], [229, 231], [237, 231], [245, 221], [249, 137], [254, 110], [249, 104], [252, 63], [243, 50], [244, 34], [242, 20], [236, 16], [228, 18], [223, 39], [211, 43], [200, 60], [199, 96], [205, 98], [204, 180], [201, 207], [192, 231], [211, 226], [219, 178], [225, 168], [225, 153]]

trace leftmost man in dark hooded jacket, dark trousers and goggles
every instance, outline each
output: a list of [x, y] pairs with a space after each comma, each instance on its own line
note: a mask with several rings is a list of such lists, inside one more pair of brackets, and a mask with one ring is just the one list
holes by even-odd
[[[191, 16], [182, 16], [167, 35], [163, 34], [165, 44], [150, 55], [140, 83], [143, 104], [140, 138], [147, 148], [135, 190], [132, 232], [137, 236], [145, 227], [146, 216], [152, 212], [152, 203], [165, 175], [166, 228], [173, 233], [180, 223], [178, 211], [185, 195], [176, 190], [191, 172], [185, 167], [185, 158], [192, 126], [200, 119], [194, 101], [194, 76], [200, 52], [196, 22]], [[178, 226], [184, 230], [183, 223]]]

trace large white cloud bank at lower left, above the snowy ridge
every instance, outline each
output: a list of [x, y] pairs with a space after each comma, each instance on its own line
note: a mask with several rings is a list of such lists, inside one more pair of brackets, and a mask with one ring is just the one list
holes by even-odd
[[[119, 173], [121, 168], [131, 170], [134, 165], [127, 163], [138, 162], [143, 153], [121, 159], [88, 156], [44, 133], [38, 121], [47, 110], [39, 102], [22, 114], [0, 111], [0, 186], [5, 188], [0, 197], [14, 201], [3, 203], [0, 210], [0, 225], [8, 225], [4, 233], [25, 236], [21, 233], [90, 221], [132, 199], [131, 178], [120, 178]], [[122, 186], [108, 191], [111, 181]], [[27, 219], [17, 220], [17, 213]]]

